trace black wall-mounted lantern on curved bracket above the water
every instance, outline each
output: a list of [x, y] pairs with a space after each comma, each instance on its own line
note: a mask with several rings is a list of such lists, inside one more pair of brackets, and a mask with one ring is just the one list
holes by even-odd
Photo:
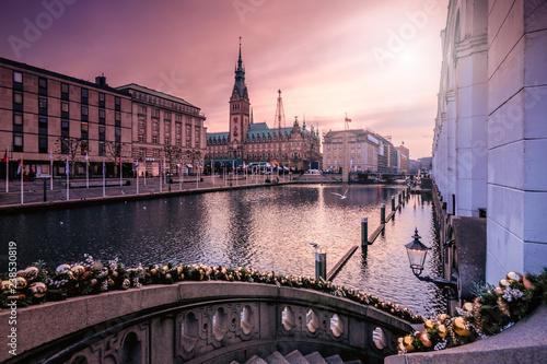
[[410, 263], [410, 269], [412, 269], [412, 273], [422, 282], [434, 283], [442, 290], [443, 296], [446, 298], [446, 310], [450, 312], [450, 301], [458, 300], [458, 285], [457, 279], [447, 280], [441, 277], [421, 277], [421, 272], [423, 271], [423, 265], [426, 262], [426, 257], [428, 255], [428, 250], [431, 248], [427, 247], [420, 242], [420, 237], [418, 235], [418, 228], [415, 230], [415, 234], [412, 236], [414, 240], [405, 244], [405, 248], [408, 254], [408, 261]]

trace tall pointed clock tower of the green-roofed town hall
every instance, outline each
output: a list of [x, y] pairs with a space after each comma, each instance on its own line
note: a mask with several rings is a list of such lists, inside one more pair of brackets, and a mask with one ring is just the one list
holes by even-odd
[[245, 84], [245, 68], [241, 59], [241, 37], [240, 58], [235, 68], [235, 82], [230, 97], [230, 145], [233, 157], [243, 156], [243, 144], [247, 138], [249, 127], [251, 102], [248, 99], [247, 85]]

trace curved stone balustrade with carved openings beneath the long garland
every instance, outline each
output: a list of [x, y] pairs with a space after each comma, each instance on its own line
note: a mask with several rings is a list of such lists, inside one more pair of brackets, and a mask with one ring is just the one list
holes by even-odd
[[[2, 327], [9, 316], [0, 313]], [[382, 363], [411, 330], [405, 320], [330, 294], [218, 281], [19, 308], [15, 327], [18, 355], [3, 348], [0, 362], [243, 363], [298, 349]]]

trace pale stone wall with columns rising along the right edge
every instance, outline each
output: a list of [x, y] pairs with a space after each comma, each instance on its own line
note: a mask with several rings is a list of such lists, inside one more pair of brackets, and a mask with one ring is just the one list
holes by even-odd
[[[547, 261], [547, 2], [450, 1], [432, 177], [446, 211], [486, 214], [486, 280]], [[482, 213], [481, 213], [482, 212]]]

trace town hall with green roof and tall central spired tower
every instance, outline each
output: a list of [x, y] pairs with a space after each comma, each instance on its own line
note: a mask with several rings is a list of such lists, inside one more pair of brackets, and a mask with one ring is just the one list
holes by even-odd
[[245, 69], [241, 57], [235, 68], [235, 82], [230, 97], [230, 120], [228, 132], [207, 134], [206, 164], [211, 161], [216, 167], [249, 163], [270, 163], [296, 169], [318, 167], [321, 138], [318, 130], [306, 128], [298, 119], [292, 127], [284, 127], [281, 91], [276, 108], [276, 126], [254, 122], [253, 110], [245, 84]]

